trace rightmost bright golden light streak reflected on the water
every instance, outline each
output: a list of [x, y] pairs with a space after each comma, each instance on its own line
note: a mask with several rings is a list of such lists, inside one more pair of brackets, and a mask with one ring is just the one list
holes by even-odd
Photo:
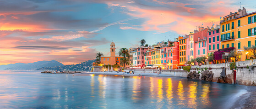
[[203, 106], [209, 106], [211, 105], [211, 101], [209, 100], [209, 93], [210, 93], [210, 84], [202, 84], [202, 95], [200, 96], [202, 100]]

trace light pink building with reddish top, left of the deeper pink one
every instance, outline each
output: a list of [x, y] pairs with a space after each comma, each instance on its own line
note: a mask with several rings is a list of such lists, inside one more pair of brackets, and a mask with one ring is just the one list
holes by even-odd
[[[202, 30], [201, 30], [202, 29]], [[207, 32], [209, 29], [199, 27], [199, 31], [194, 33], [195, 37], [195, 59], [197, 57], [207, 57]]]

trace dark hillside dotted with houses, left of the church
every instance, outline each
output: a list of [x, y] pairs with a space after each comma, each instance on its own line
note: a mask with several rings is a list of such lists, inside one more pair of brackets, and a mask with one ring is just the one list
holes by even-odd
[[71, 64], [71, 65], [65, 65], [65, 66], [52, 66], [52, 67], [42, 67], [36, 70], [57, 70], [57, 71], [63, 71], [63, 70], [71, 70], [71, 71], [91, 71], [92, 69], [92, 63], [96, 60], [88, 60], [85, 62], [82, 62], [81, 64]]

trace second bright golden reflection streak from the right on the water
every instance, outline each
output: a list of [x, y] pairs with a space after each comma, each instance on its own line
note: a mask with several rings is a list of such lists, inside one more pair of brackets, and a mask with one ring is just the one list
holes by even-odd
[[189, 84], [188, 108], [197, 108], [197, 102], [196, 102], [197, 85], [198, 84], [196, 82]]

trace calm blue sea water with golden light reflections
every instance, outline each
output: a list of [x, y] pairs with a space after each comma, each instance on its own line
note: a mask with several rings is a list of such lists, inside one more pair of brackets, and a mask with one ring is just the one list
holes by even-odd
[[0, 109], [227, 109], [245, 89], [183, 78], [0, 71]]

